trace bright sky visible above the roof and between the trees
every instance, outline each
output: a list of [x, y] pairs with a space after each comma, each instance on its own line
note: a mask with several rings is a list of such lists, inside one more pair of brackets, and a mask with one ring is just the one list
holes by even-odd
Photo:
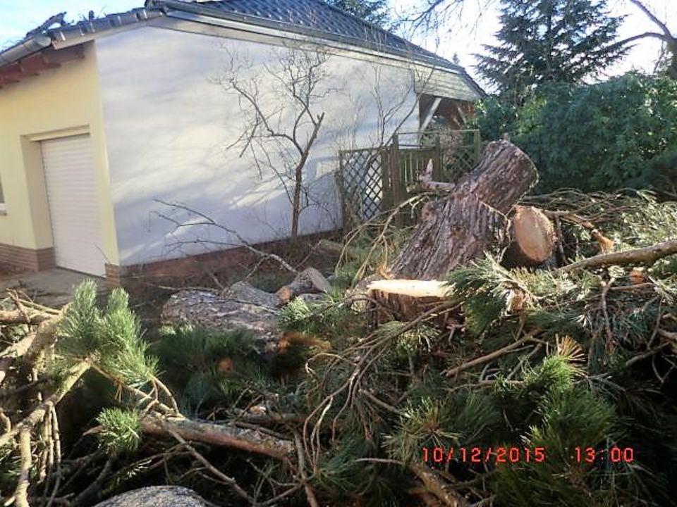
[[[391, 0], [398, 13], [411, 8], [417, 0]], [[418, 0], [422, 2], [423, 0]], [[645, 0], [652, 11], [677, 32], [677, 0]], [[461, 16], [442, 30], [438, 37], [426, 37], [413, 42], [425, 46], [446, 58], [456, 54], [470, 75], [477, 78], [475, 57], [482, 51], [482, 44], [494, 44], [494, 33], [499, 29], [497, 0], [468, 0]], [[630, 37], [642, 32], [654, 31], [656, 27], [648, 18], [627, 0], [609, 0], [613, 13], [627, 15], [620, 30], [620, 37]], [[67, 19], [77, 20], [91, 10], [95, 15], [128, 11], [143, 6], [143, 0], [0, 0], [0, 47], [20, 40], [26, 32], [40, 25], [49, 16], [67, 12]], [[642, 39], [623, 62], [607, 70], [606, 75], [618, 75], [638, 69], [650, 72], [657, 60], [660, 43], [654, 39]], [[479, 79], [480, 83], [482, 80]]]

